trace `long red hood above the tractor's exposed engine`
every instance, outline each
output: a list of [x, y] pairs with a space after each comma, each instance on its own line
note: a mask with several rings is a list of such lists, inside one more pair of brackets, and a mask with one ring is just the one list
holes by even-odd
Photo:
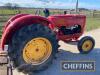
[[55, 26], [70, 26], [75, 24], [84, 26], [86, 16], [80, 14], [53, 15], [49, 16], [48, 19], [54, 23]]

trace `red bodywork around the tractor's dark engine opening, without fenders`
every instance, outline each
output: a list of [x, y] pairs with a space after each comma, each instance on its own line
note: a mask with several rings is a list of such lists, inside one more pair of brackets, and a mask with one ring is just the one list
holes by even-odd
[[58, 39], [63, 41], [72, 41], [72, 39], [77, 40], [84, 32], [86, 16], [79, 14], [68, 14], [68, 15], [55, 15], [49, 16], [48, 19], [54, 23], [54, 27], [66, 26], [70, 27], [75, 24], [81, 25], [81, 33], [73, 35], [63, 35], [60, 32], [57, 33]]

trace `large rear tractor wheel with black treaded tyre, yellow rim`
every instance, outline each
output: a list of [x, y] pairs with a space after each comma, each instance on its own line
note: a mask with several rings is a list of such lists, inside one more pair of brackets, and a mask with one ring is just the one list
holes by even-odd
[[15, 32], [8, 53], [14, 66], [28, 73], [47, 69], [57, 50], [55, 33], [47, 26], [33, 24]]

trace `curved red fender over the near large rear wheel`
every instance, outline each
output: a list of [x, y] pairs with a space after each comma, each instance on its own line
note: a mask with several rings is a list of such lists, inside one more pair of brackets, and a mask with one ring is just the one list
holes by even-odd
[[13, 20], [4, 30], [2, 38], [1, 38], [1, 48], [4, 49], [4, 45], [8, 44], [11, 41], [12, 36], [15, 33], [15, 31], [19, 30], [23, 26], [32, 25], [35, 23], [46, 25], [50, 27], [50, 29], [54, 28], [53, 23], [45, 17], [33, 16], [33, 15], [21, 16]]

